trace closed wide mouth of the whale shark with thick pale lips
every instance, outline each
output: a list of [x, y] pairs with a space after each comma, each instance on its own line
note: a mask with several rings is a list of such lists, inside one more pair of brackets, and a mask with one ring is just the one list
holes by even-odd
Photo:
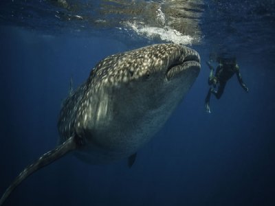
[[199, 54], [192, 49], [190, 49], [188, 53], [188, 55], [182, 54], [182, 56], [179, 56], [177, 60], [170, 63], [166, 70], [167, 80], [171, 80], [172, 78], [180, 76], [182, 71], [189, 69], [199, 70], [201, 68]]

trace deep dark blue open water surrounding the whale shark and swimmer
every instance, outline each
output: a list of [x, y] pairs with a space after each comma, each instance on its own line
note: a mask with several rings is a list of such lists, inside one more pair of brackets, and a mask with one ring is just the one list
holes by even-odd
[[[76, 87], [102, 58], [162, 42], [112, 36], [113, 25], [56, 34], [62, 29], [52, 19], [49, 25], [39, 18], [26, 25], [21, 15], [11, 21], [9, 12], [23, 3], [3, 2], [12, 7], [0, 9], [0, 195], [56, 146], [71, 76]], [[189, 45], [201, 55], [201, 73], [164, 128], [138, 151], [133, 168], [126, 160], [98, 166], [67, 155], [30, 176], [5, 205], [275, 205], [275, 3], [238, 2], [201, 3], [201, 40]], [[233, 76], [208, 114], [205, 61], [213, 50], [236, 55], [250, 91]]]

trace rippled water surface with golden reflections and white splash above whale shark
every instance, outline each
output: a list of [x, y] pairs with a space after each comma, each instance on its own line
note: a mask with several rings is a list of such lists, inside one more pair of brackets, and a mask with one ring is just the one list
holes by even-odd
[[263, 1], [1, 1], [1, 25], [44, 34], [108, 34], [215, 51], [274, 54], [275, 3]]

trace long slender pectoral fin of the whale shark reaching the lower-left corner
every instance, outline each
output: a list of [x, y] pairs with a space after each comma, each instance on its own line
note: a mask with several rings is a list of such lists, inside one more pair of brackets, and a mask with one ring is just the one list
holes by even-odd
[[20, 183], [25, 180], [30, 174], [34, 173], [36, 170], [39, 170], [46, 165], [56, 161], [57, 159], [63, 157], [72, 150], [76, 149], [76, 143], [74, 141], [74, 137], [70, 137], [66, 141], [63, 142], [60, 146], [54, 148], [54, 150], [50, 150], [46, 152], [44, 155], [39, 157], [34, 163], [28, 165], [20, 174], [17, 176], [16, 179], [12, 182], [12, 184], [5, 190], [5, 193], [0, 199], [0, 206], [4, 203], [5, 199], [8, 198], [10, 193], [18, 186]]

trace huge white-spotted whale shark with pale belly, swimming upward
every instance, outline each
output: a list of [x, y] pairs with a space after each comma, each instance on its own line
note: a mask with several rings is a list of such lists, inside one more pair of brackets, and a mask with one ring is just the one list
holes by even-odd
[[104, 58], [69, 91], [58, 119], [58, 146], [28, 165], [0, 205], [30, 174], [73, 152], [91, 164], [128, 158], [164, 125], [200, 71], [199, 54], [173, 43], [149, 45]]

